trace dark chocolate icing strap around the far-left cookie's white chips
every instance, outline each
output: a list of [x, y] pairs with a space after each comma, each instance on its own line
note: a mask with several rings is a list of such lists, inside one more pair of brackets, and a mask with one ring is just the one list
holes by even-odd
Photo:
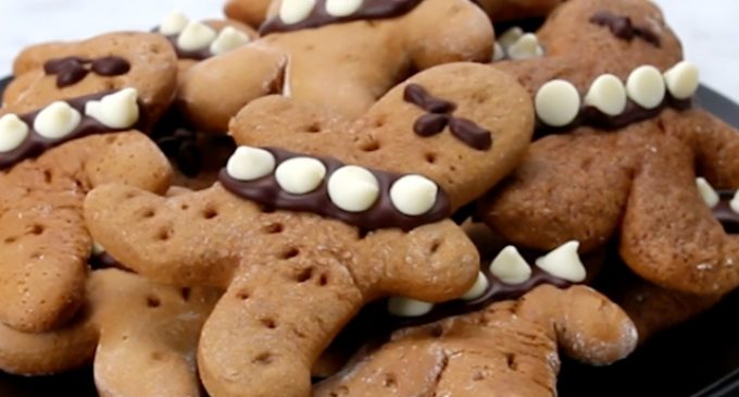
[[118, 90], [104, 91], [100, 94], [65, 100], [66, 103], [68, 103], [73, 109], [77, 110], [82, 114], [82, 120], [79, 122], [79, 125], [74, 131], [58, 139], [45, 138], [34, 129], [34, 121], [36, 120], [38, 113], [40, 113], [45, 108], [41, 108], [32, 113], [18, 115], [18, 119], [21, 119], [24, 123], [26, 123], [26, 125], [28, 125], [29, 128], [28, 136], [26, 136], [21, 146], [18, 146], [17, 148], [7, 152], [0, 152], [0, 170], [15, 165], [16, 163], [23, 160], [39, 156], [48, 149], [60, 146], [73, 139], [84, 138], [86, 136], [96, 134], [112, 134], [120, 133], [122, 131], [140, 129], [140, 127], [145, 125], [142, 110], [143, 108], [141, 107], [140, 102], [138, 104], [139, 121], [128, 128], [118, 129], [111, 128], [85, 114], [85, 106], [87, 104], [87, 102], [100, 100], [103, 97], [111, 94], [115, 94], [117, 91]]

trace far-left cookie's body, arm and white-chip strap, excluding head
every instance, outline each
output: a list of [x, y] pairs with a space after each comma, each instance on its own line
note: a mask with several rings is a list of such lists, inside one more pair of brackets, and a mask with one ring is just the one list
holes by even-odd
[[83, 303], [87, 191], [111, 182], [166, 189], [166, 159], [133, 129], [142, 114], [137, 90], [126, 88], [0, 115], [1, 322], [47, 331]]

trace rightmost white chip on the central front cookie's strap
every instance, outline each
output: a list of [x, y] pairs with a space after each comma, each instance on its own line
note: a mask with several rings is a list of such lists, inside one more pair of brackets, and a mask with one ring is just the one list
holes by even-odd
[[390, 187], [390, 201], [401, 213], [416, 216], [434, 208], [438, 194], [439, 187], [434, 181], [422, 175], [406, 175]]

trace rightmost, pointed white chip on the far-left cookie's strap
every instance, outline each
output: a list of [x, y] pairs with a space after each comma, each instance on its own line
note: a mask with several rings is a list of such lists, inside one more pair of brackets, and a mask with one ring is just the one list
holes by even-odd
[[85, 104], [85, 114], [109, 128], [131, 127], [139, 119], [138, 90], [124, 88]]

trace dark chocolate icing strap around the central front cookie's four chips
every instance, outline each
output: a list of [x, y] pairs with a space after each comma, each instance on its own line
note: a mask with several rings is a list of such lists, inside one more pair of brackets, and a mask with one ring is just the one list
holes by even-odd
[[[270, 151], [275, 157], [277, 164], [280, 164], [286, 160], [303, 156], [283, 149], [264, 149]], [[328, 196], [327, 182], [334, 171], [340, 169], [345, 164], [333, 158], [317, 156], [311, 157], [323, 162], [323, 164], [326, 166], [327, 173], [318, 188], [305, 195], [292, 195], [283, 190], [277, 184], [274, 173], [256, 181], [243, 182], [233, 178], [230, 175], [228, 175], [226, 169], [223, 169], [218, 174], [218, 179], [226, 190], [260, 204], [278, 210], [312, 212], [322, 216], [340, 220], [364, 231], [389, 227], [399, 227], [403, 231], [410, 231], [421, 225], [444, 220], [451, 214], [451, 203], [449, 197], [440, 188], [436, 203], [428, 212], [419, 216], [408, 216], [402, 214], [396, 210], [392, 202], [390, 201], [390, 187], [396, 181], [405, 175], [393, 174], [373, 169], [367, 170], [375, 175], [379, 182], [380, 188], [379, 198], [375, 204], [364, 212], [343, 211], [336, 207], [330, 200]]]

